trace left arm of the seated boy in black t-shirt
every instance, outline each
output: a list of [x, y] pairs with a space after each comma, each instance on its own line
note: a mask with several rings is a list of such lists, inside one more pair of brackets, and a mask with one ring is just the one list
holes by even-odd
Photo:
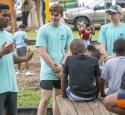
[[61, 93], [63, 98], [67, 97], [66, 95], [67, 84], [68, 84], [68, 75], [63, 73], [62, 80], [61, 80]]

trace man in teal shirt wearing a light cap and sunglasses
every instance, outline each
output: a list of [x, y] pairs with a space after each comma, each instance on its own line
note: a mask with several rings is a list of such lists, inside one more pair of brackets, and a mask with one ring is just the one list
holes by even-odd
[[106, 61], [113, 54], [113, 43], [116, 39], [125, 39], [125, 24], [120, 21], [122, 8], [118, 5], [111, 6], [106, 11], [111, 23], [101, 27], [99, 35], [100, 52]]

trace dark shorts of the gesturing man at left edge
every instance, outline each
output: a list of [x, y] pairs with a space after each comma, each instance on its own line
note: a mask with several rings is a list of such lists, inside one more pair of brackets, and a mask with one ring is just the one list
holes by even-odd
[[17, 93], [6, 92], [0, 94], [0, 115], [17, 115]]

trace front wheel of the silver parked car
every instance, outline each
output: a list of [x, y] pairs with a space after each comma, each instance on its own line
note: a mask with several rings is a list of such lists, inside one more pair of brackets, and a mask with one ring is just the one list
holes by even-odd
[[86, 26], [89, 24], [88, 20], [85, 17], [80, 17], [75, 20], [74, 28], [78, 30], [80, 25]]

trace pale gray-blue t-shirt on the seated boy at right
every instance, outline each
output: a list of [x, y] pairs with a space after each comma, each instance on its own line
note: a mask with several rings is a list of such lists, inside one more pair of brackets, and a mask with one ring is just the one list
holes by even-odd
[[108, 60], [102, 70], [102, 79], [108, 81], [108, 95], [118, 93], [122, 75], [125, 72], [125, 56], [118, 56]]

